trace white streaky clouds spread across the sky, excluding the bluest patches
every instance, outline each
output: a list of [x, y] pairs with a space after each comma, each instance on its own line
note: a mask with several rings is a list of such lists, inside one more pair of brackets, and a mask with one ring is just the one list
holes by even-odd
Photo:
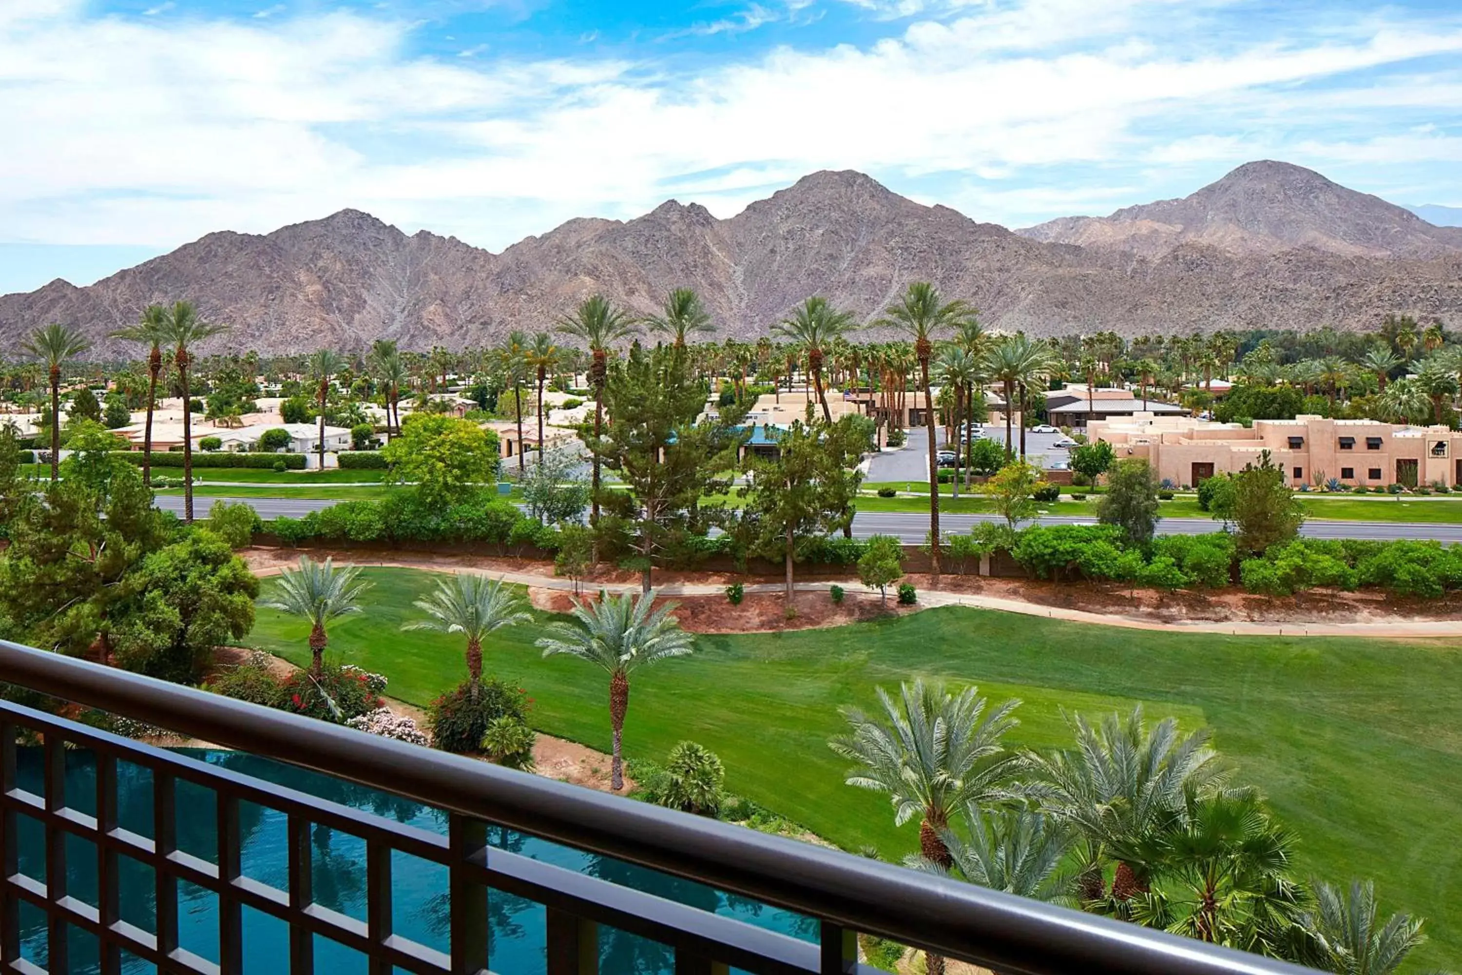
[[[0, 132], [25, 146], [0, 155], [0, 227], [177, 244], [357, 206], [501, 247], [671, 194], [730, 215], [817, 168], [902, 177], [921, 199], [1018, 221], [1113, 209], [1135, 202], [1114, 186], [1142, 167], [1240, 162], [1259, 146], [1310, 164], [1459, 158], [1446, 124], [1390, 127], [1398, 108], [1455, 124], [1462, 72], [1395, 69], [1462, 53], [1458, 25], [1218, 44], [1174, 34], [1178, 16], [1167, 0], [984, 3], [867, 47], [686, 76], [481, 45], [417, 57], [414, 25], [346, 12], [154, 22], [0, 0]], [[1392, 73], [1366, 75], [1379, 67]], [[1382, 134], [1338, 137], [1333, 118]], [[1054, 193], [1019, 186], [1077, 165], [1130, 168]]]

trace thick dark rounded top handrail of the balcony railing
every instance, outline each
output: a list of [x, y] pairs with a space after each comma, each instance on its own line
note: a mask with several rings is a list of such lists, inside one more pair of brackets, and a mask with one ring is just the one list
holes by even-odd
[[1308, 971], [6, 640], [0, 680], [1000, 972]]

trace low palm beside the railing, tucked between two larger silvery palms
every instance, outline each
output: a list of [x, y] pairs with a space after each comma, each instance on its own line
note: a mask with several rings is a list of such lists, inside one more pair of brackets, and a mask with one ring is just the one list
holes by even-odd
[[952, 873], [1018, 898], [1077, 906], [1066, 857], [1072, 833], [1063, 823], [1025, 808], [988, 811], [978, 805], [965, 810], [965, 822], [968, 839], [953, 830], [942, 833], [952, 861], [947, 871], [923, 857], [909, 857], [905, 862], [915, 870]]

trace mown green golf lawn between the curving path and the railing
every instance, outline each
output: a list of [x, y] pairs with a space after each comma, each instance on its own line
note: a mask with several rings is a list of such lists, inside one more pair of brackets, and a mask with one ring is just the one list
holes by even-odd
[[[332, 624], [332, 653], [425, 703], [463, 672], [461, 640], [399, 629], [433, 576], [366, 574], [376, 582], [368, 607]], [[494, 636], [488, 671], [528, 688], [537, 726], [607, 750], [604, 678], [539, 659], [535, 636]], [[308, 658], [306, 626], [272, 610], [260, 610], [250, 642]], [[1306, 870], [1374, 877], [1385, 905], [1431, 918], [1425, 968], [1462, 953], [1459, 664], [1462, 649], [1442, 643], [1146, 633], [943, 608], [835, 630], [703, 636], [693, 656], [636, 675], [624, 740], [630, 757], [700, 741], [734, 791], [846, 848], [899, 857], [914, 829], [896, 830], [886, 801], [842, 785], [844, 763], [827, 748], [839, 706], [867, 706], [874, 684], [915, 675], [972, 681], [991, 699], [1025, 702], [1015, 741], [1054, 746], [1067, 740], [1061, 707], [1098, 715], [1143, 702], [1154, 716], [1215, 729], [1243, 779], [1300, 835]]]

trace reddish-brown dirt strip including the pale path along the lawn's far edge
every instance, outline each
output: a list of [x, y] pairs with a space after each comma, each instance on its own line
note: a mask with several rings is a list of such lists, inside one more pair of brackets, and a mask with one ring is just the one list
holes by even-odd
[[[361, 553], [342, 550], [336, 553], [320, 551], [317, 555], [335, 555], [341, 561], [357, 566], [421, 569], [425, 572], [469, 572], [503, 579], [529, 589], [547, 591], [534, 593], [535, 605], [541, 608], [561, 610], [569, 604], [575, 592], [575, 583], [569, 579], [558, 579], [551, 574], [553, 567], [541, 563], [522, 563], [512, 558], [481, 558], [469, 555], [433, 555], [417, 553], [398, 553], [390, 558], [379, 555], [361, 557]], [[292, 566], [300, 553], [287, 548], [251, 548], [243, 553], [250, 569], [257, 576], [275, 576], [285, 567]], [[832, 605], [830, 599], [801, 601], [798, 617], [787, 620], [781, 617], [781, 601], [775, 599], [775, 612], [766, 612], [772, 599], [750, 599], [750, 596], [779, 595], [784, 591], [779, 582], [743, 583], [749, 596], [746, 607], [731, 608], [725, 602], [725, 585], [730, 576], [699, 574], [706, 582], [692, 582], [697, 576], [693, 573], [662, 573], [664, 585], [655, 588], [661, 596], [687, 598], [696, 602], [715, 602], [716, 611], [708, 614], [694, 611], [687, 615], [713, 617], [718, 623], [705, 627], [690, 626], [703, 633], [747, 633], [782, 629], [806, 629], [808, 626], [841, 626], [858, 618], [879, 615], [883, 601], [877, 589], [868, 589], [855, 579], [833, 582], [806, 582], [797, 585], [798, 593], [826, 593], [833, 585], [839, 585], [846, 592], [846, 602], [838, 612], [827, 612], [820, 607]], [[1186, 607], [1181, 598], [1170, 596], [1168, 604], [1158, 610], [1148, 605], [1148, 599], [1155, 598], [1161, 605], [1162, 596], [1139, 591], [1088, 591], [1083, 596], [1088, 602], [1099, 601], [1104, 605], [1088, 608], [1072, 605], [1053, 605], [1041, 598], [1053, 599], [1057, 586], [1044, 583], [1029, 583], [1012, 579], [982, 579], [971, 576], [946, 576], [944, 589], [930, 589], [927, 579], [909, 576], [918, 586], [918, 607], [972, 607], [978, 610], [999, 610], [1001, 612], [1019, 612], [1023, 615], [1045, 617], [1050, 620], [1067, 620], [1072, 623], [1089, 623], [1095, 626], [1116, 626], [1133, 630], [1156, 630], [1167, 633], [1222, 633], [1230, 636], [1358, 636], [1358, 637], [1431, 637], [1453, 639], [1462, 637], [1462, 614], [1450, 604], [1437, 602], [1430, 607], [1430, 612], [1423, 611], [1415, 615], [1401, 615], [1395, 608], [1387, 608], [1383, 599], [1364, 593], [1326, 593], [1329, 602], [1320, 605], [1317, 599], [1265, 599], [1246, 596], [1243, 593], [1219, 593], [1206, 598], [1199, 611], [1208, 618], [1187, 618], [1193, 615], [1192, 607]], [[608, 592], [639, 592], [639, 580], [633, 573], [610, 572], [596, 577], [585, 579], [580, 583], [585, 592], [604, 589]], [[974, 591], [971, 591], [974, 589]], [[1075, 588], [1067, 588], [1075, 591]], [[1032, 598], [1039, 596], [1039, 598]], [[887, 604], [893, 610], [892, 599]], [[1425, 610], [1427, 607], [1418, 607]], [[687, 607], [692, 610], [692, 607]], [[694, 610], [699, 610], [696, 607]], [[738, 612], [740, 610], [740, 612]], [[749, 610], [754, 610], [750, 612]], [[908, 611], [908, 608], [902, 610]], [[1259, 615], [1260, 618], [1253, 618]], [[1276, 617], [1276, 618], [1275, 618]], [[1329, 617], [1329, 618], [1325, 618]], [[684, 621], [684, 620], [683, 620]]]

